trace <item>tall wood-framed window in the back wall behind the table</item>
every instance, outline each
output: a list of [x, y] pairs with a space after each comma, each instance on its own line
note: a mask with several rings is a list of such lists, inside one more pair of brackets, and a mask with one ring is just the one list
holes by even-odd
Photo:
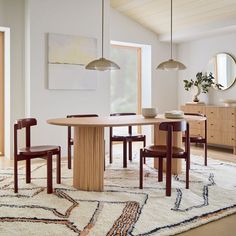
[[111, 71], [111, 113], [141, 112], [141, 48], [111, 46], [111, 60], [120, 70]]

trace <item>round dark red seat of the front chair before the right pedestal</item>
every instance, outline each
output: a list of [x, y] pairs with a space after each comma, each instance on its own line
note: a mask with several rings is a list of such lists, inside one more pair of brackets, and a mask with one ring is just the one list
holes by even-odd
[[[179, 157], [184, 154], [184, 149], [179, 147], [172, 147], [172, 156]], [[151, 145], [144, 148], [144, 153], [150, 154], [151, 156], [165, 157], [167, 153], [167, 147], [164, 145]], [[145, 155], [145, 156], [146, 156]]]

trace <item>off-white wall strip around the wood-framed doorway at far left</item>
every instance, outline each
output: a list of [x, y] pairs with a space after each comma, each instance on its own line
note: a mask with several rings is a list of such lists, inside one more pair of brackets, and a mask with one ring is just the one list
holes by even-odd
[[[0, 0], [0, 26], [10, 28], [10, 139], [13, 148], [13, 123], [24, 117], [24, 0]], [[5, 129], [8, 130], [8, 127]], [[21, 142], [22, 143], [22, 142]], [[6, 152], [6, 150], [5, 150]], [[10, 156], [6, 156], [10, 158]]]

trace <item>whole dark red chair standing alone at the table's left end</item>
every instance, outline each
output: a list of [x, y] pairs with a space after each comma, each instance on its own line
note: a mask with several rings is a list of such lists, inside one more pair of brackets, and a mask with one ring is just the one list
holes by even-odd
[[[17, 120], [14, 124], [14, 191], [18, 192], [18, 161], [26, 161], [26, 183], [31, 182], [31, 159], [47, 159], [47, 193], [53, 192], [52, 156], [57, 155], [57, 183], [61, 183], [60, 146], [31, 146], [30, 128], [37, 125], [35, 118]], [[25, 147], [18, 149], [18, 130], [25, 128]]]

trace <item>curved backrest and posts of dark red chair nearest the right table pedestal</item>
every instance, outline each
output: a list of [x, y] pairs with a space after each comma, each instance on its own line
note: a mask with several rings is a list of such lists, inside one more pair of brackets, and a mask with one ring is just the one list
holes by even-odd
[[185, 142], [185, 152], [190, 152], [190, 139], [189, 139], [189, 124], [186, 121], [171, 121], [171, 122], [162, 122], [159, 125], [159, 129], [162, 131], [167, 131], [166, 144], [167, 151], [172, 155], [172, 135], [173, 132], [185, 132], [186, 142]]

